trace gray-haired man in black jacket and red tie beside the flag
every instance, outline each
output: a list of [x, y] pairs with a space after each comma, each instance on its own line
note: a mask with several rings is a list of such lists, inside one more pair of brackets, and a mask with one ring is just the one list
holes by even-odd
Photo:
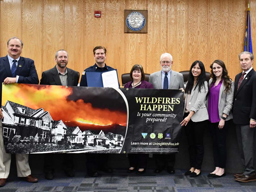
[[253, 165], [254, 132], [256, 127], [256, 72], [253, 70], [254, 56], [250, 52], [239, 54], [243, 72], [236, 75], [233, 121], [236, 124], [238, 146], [244, 170], [236, 173], [238, 182], [256, 181]]

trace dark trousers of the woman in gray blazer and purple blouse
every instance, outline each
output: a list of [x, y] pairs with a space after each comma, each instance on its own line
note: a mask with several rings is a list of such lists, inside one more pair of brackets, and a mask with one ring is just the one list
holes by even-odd
[[210, 135], [212, 137], [213, 158], [215, 167], [226, 167], [226, 138], [230, 120], [225, 121], [223, 129], [219, 129], [217, 123], [209, 122]]

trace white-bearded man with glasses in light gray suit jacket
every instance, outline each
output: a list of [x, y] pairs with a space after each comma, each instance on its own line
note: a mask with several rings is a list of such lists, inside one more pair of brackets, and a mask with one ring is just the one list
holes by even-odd
[[[179, 72], [172, 71], [172, 55], [164, 53], [160, 57], [161, 71], [154, 72], [149, 76], [149, 82], [154, 89], [184, 89], [183, 75]], [[155, 173], [160, 173], [167, 167], [168, 173], [174, 174], [175, 154], [157, 154]]]

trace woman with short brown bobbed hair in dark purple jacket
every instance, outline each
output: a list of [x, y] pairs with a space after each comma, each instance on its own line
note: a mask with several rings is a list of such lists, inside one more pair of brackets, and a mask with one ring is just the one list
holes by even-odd
[[[133, 65], [130, 77], [133, 79], [132, 81], [125, 84], [124, 88], [149, 88], [153, 89], [153, 85], [149, 82], [145, 81], [145, 74], [143, 71], [143, 67], [141, 65]], [[134, 172], [136, 168], [137, 174], [143, 174], [146, 170], [146, 157], [147, 154], [135, 154], [131, 153], [128, 154], [128, 159], [130, 163], [130, 168], [127, 170], [128, 173]]]

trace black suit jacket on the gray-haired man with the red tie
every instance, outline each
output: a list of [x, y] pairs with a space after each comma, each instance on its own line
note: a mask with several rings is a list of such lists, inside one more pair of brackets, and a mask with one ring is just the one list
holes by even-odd
[[233, 121], [236, 124], [249, 125], [250, 119], [256, 120], [256, 72], [252, 69], [237, 90], [241, 75], [239, 73], [235, 78]]

